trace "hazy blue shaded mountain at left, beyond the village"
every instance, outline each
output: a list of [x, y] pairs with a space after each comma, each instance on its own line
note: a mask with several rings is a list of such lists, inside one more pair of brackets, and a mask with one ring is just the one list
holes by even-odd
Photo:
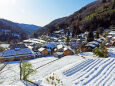
[[40, 29], [40, 26], [15, 23], [6, 19], [0, 19], [0, 41], [24, 40], [30, 37], [30, 34]]

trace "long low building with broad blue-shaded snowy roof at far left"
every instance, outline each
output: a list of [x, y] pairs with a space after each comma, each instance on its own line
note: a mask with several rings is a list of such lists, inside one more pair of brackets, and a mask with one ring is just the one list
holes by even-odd
[[0, 59], [5, 60], [20, 60], [20, 59], [32, 59], [35, 58], [34, 52], [29, 48], [18, 49], [18, 50], [5, 50], [2, 52]]

